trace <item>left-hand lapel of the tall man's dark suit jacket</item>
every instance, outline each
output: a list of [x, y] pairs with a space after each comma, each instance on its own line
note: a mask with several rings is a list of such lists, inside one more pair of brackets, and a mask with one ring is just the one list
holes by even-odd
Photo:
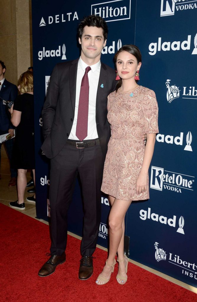
[[72, 104], [73, 111], [75, 110], [78, 61], [79, 59], [74, 60], [69, 69], [70, 95], [71, 95], [71, 104]]

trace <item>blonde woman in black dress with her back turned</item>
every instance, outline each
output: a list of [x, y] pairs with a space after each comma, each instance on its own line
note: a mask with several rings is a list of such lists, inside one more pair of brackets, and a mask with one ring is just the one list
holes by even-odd
[[[19, 87], [21, 95], [18, 95], [14, 105], [9, 109], [11, 123], [16, 127], [14, 162], [18, 169], [18, 200], [10, 202], [9, 205], [19, 210], [25, 210], [24, 193], [28, 169], [33, 171], [35, 183], [33, 72], [26, 71], [21, 75]], [[28, 198], [27, 201], [35, 203], [35, 195]]]

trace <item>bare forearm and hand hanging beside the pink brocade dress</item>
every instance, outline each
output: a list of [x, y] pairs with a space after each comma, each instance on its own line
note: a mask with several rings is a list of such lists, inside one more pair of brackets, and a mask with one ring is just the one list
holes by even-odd
[[142, 164], [140, 174], [136, 181], [136, 193], [137, 194], [140, 194], [142, 189], [144, 189], [144, 191], [146, 191], [148, 169], [149, 169], [151, 159], [153, 157], [156, 133], [146, 134], [146, 136], [147, 136], [147, 141], [146, 141], [146, 147], [145, 147], [145, 152], [144, 152], [143, 164]]

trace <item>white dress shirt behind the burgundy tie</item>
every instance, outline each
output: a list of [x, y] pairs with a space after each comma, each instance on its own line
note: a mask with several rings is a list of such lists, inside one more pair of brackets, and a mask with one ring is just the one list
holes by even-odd
[[[84, 140], [93, 140], [98, 138], [97, 125], [96, 125], [96, 97], [97, 88], [100, 76], [100, 60], [98, 63], [91, 65], [91, 70], [88, 72], [89, 81], [89, 107], [88, 107], [88, 124], [87, 124], [87, 137]], [[77, 66], [77, 82], [76, 82], [76, 98], [75, 98], [75, 111], [74, 111], [74, 121], [69, 135], [70, 140], [79, 140], [76, 137], [76, 127], [77, 127], [77, 114], [79, 107], [79, 95], [81, 88], [81, 81], [85, 73], [85, 69], [88, 65], [82, 61], [81, 57], [78, 61]]]

